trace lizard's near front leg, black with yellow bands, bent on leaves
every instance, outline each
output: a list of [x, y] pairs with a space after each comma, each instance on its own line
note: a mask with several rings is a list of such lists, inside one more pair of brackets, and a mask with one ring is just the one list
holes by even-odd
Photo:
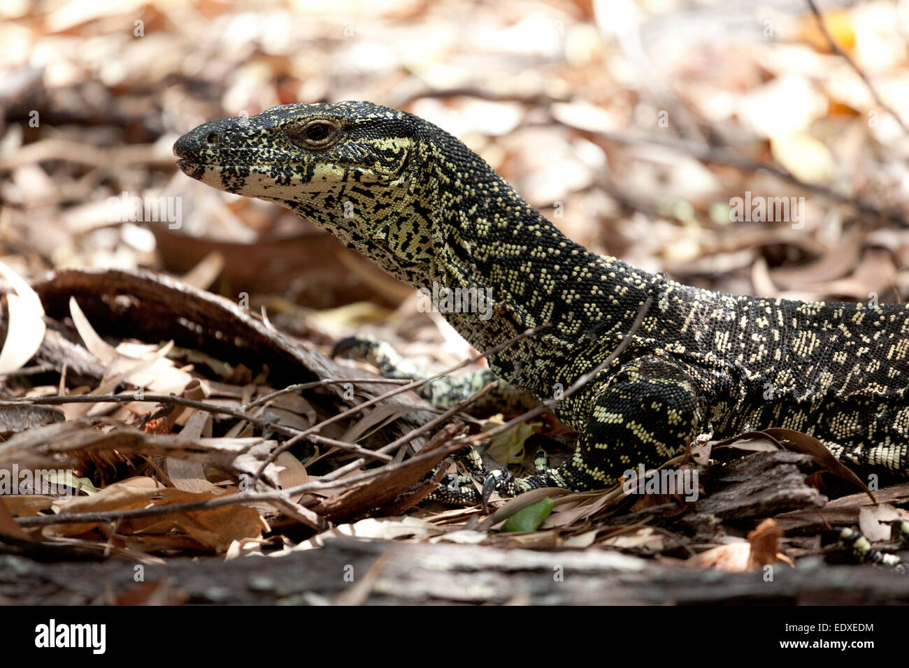
[[629, 469], [663, 464], [684, 451], [701, 423], [694, 383], [673, 361], [647, 355], [624, 364], [594, 392], [574, 456], [558, 468], [514, 481], [518, 492], [577, 492], [618, 482]]

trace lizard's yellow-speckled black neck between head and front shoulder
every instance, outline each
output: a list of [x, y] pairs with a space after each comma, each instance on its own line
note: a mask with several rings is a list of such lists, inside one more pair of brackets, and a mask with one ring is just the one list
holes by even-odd
[[[470, 155], [471, 164], [437, 180], [434, 250], [430, 270], [416, 286], [422, 304], [443, 314], [478, 350], [552, 324], [535, 341], [524, 339], [490, 359], [514, 384], [548, 396], [554, 383], [574, 380], [559, 376], [566, 373], [565, 355], [618, 344], [654, 284], [664, 279], [575, 244]], [[434, 295], [457, 291], [476, 308], [463, 308], [463, 300], [460, 308], [456, 299], [433, 301]], [[547, 357], [562, 363], [550, 364]], [[531, 360], [534, 368], [522, 364]]]

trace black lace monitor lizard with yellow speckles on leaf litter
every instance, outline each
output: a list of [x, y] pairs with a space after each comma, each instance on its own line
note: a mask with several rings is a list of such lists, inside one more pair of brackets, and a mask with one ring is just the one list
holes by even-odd
[[489, 358], [540, 400], [603, 362], [653, 299], [622, 354], [558, 404], [574, 456], [501, 476], [505, 492], [602, 488], [696, 434], [769, 426], [812, 434], [849, 464], [906, 471], [906, 306], [719, 294], [591, 253], [454, 136], [371, 103], [224, 118], [174, 152], [185, 174], [290, 208], [405, 283], [488, 290], [492, 317], [445, 314], [477, 350], [551, 324]]

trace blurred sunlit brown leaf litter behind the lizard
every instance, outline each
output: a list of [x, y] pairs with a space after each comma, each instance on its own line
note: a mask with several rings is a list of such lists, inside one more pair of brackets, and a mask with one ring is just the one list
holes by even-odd
[[[410, 288], [175, 169], [205, 121], [353, 99], [457, 135], [599, 253], [734, 294], [895, 301], [909, 1], [820, 8], [826, 31], [802, 0], [3, 0], [0, 256], [195, 271], [313, 344], [367, 329], [450, 361], [466, 344]], [[804, 220], [731, 222], [746, 194], [804, 197]], [[121, 196], [177, 198], [182, 224], [112, 221]]]

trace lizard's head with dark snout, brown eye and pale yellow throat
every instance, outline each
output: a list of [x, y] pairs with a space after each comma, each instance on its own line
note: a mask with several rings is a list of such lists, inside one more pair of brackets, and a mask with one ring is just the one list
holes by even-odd
[[368, 102], [282, 105], [199, 125], [174, 154], [185, 174], [293, 209], [412, 282], [412, 265], [432, 250], [429, 234], [414, 234], [425, 188], [411, 165], [423, 125]]

